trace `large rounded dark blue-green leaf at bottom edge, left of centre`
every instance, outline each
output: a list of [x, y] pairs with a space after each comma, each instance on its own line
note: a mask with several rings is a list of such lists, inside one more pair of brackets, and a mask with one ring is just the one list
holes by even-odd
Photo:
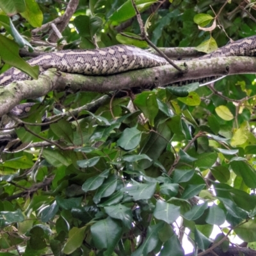
[[99, 250], [107, 249], [104, 255], [111, 255], [116, 244], [122, 237], [122, 227], [120, 223], [110, 217], [106, 220], [97, 221], [91, 227], [93, 242]]

